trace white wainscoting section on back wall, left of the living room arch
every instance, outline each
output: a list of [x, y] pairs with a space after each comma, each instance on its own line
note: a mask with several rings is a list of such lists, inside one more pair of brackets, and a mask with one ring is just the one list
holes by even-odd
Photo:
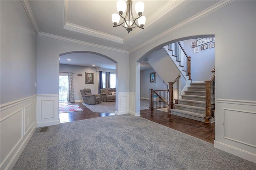
[[58, 94], [37, 96], [37, 124], [38, 127], [60, 124]]

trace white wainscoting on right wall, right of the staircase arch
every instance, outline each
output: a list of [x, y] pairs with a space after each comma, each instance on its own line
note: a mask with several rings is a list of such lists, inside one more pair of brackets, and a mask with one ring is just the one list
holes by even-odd
[[214, 147], [256, 163], [256, 102], [216, 99]]

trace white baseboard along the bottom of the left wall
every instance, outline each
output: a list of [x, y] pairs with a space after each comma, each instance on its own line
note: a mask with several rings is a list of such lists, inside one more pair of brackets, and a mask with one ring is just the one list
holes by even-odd
[[[7, 169], [12, 169], [14, 167], [14, 165], [16, 164], [18, 158], [22, 154], [24, 148], [26, 147], [26, 145], [28, 144], [29, 140], [32, 138], [34, 132], [36, 131], [36, 127], [37, 127], [37, 124], [35, 122], [33, 127], [31, 128], [30, 132], [28, 133], [27, 137], [23, 140], [23, 142], [20, 145], [20, 147], [18, 148], [17, 152], [14, 154], [14, 156], [11, 158], [10, 162], [7, 164], [7, 166], [5, 168], [6, 170]], [[1, 166], [1, 169], [2, 169], [2, 166]]]

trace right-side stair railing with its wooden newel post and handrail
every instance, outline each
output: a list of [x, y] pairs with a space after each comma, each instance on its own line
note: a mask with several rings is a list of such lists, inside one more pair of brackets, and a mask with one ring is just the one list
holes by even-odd
[[214, 118], [215, 111], [215, 67], [212, 69], [212, 79], [204, 81], [205, 84], [205, 122], [210, 124], [210, 119]]

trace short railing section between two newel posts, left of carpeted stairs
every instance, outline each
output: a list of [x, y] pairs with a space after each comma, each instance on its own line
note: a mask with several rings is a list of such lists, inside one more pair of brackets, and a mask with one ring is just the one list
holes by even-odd
[[168, 107], [169, 90], [153, 90], [149, 89], [149, 109], [159, 109]]

